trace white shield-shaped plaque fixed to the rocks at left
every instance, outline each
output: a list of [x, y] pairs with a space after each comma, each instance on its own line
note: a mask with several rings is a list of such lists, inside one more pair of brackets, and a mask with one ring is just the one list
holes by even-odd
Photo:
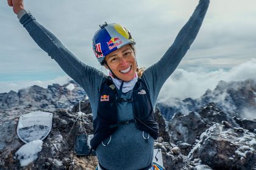
[[24, 143], [34, 140], [43, 140], [52, 128], [52, 114], [49, 112], [30, 112], [21, 115], [17, 134]]

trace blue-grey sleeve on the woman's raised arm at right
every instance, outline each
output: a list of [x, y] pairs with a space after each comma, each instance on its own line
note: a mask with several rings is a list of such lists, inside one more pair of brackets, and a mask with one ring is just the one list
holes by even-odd
[[151, 90], [151, 101], [155, 106], [157, 96], [160, 92], [163, 83], [177, 68], [183, 56], [187, 53], [188, 49], [202, 25], [205, 13], [207, 12], [210, 0], [200, 0], [193, 15], [182, 27], [176, 39], [169, 49], [165, 52], [162, 58], [145, 70], [144, 78], [148, 82], [148, 87]]

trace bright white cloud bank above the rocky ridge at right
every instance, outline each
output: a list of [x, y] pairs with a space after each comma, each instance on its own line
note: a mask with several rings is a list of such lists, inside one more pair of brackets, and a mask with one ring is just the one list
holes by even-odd
[[[200, 70], [200, 69], [199, 69]], [[247, 61], [230, 70], [219, 69], [213, 72], [188, 72], [177, 69], [164, 84], [159, 101], [172, 101], [171, 98], [198, 98], [207, 89], [215, 89], [220, 80], [243, 81], [251, 78], [256, 81], [256, 60]]]

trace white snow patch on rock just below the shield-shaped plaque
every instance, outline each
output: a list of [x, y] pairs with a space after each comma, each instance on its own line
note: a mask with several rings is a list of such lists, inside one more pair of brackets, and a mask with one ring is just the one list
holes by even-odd
[[34, 140], [21, 146], [15, 153], [15, 157], [20, 160], [21, 166], [27, 166], [29, 163], [37, 159], [38, 152], [41, 151], [43, 141]]

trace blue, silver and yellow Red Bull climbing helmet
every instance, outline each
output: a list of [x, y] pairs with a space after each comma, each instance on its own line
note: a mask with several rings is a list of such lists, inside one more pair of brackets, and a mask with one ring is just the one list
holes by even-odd
[[99, 63], [104, 65], [104, 58], [109, 53], [126, 46], [136, 44], [129, 30], [122, 25], [113, 23], [99, 25], [101, 27], [93, 36], [93, 52]]

